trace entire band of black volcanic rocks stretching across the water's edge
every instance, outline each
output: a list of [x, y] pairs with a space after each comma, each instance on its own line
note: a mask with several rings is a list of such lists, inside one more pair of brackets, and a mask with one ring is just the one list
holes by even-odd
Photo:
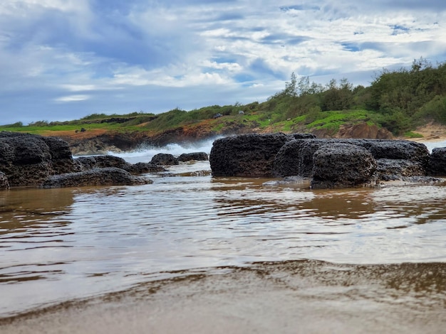
[[437, 176], [446, 176], [446, 148], [430, 153], [415, 141], [240, 134], [214, 141], [209, 157], [204, 152], [159, 153], [150, 163], [131, 164], [109, 155], [73, 158], [63, 139], [2, 131], [0, 188], [150, 184], [143, 174], [208, 158], [213, 176], [309, 178], [313, 189], [374, 187], [382, 181], [435, 183], [442, 181]]

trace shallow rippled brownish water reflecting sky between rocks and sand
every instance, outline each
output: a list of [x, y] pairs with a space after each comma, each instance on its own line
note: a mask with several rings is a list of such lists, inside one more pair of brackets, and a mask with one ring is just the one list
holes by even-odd
[[[177, 168], [185, 175], [191, 167]], [[444, 185], [309, 190], [305, 182], [192, 175], [0, 193], [0, 315], [195, 268], [446, 260]]]

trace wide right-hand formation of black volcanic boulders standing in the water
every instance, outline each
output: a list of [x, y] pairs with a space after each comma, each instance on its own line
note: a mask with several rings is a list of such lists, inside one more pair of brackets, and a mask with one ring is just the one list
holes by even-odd
[[446, 175], [445, 151], [437, 152], [413, 141], [241, 135], [215, 141], [209, 161], [214, 176], [301, 176], [312, 188], [350, 188], [432, 181], [428, 171]]

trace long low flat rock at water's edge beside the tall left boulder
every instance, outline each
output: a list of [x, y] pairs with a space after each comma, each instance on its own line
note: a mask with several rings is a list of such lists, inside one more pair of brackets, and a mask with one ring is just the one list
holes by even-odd
[[50, 176], [41, 188], [80, 187], [85, 185], [143, 185], [152, 181], [133, 176], [121, 168], [93, 168], [90, 171]]

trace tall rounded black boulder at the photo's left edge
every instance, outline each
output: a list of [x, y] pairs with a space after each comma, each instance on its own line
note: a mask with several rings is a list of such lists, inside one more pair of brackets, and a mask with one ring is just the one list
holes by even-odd
[[0, 132], [0, 171], [11, 186], [37, 185], [74, 168], [68, 144], [57, 138]]

